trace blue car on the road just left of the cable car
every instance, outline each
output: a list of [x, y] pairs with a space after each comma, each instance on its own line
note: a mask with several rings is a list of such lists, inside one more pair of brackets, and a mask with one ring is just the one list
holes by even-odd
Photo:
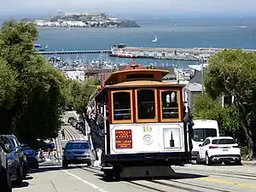
[[62, 166], [68, 164], [84, 164], [90, 166], [90, 146], [86, 141], [69, 141], [63, 148]]

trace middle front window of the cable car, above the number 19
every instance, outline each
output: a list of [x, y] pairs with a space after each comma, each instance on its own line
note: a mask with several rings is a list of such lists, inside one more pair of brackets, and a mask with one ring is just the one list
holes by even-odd
[[155, 118], [154, 90], [137, 90], [138, 119]]

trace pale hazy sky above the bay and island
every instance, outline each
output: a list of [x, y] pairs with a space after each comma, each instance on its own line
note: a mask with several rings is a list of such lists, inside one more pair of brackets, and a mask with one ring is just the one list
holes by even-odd
[[38, 17], [67, 11], [108, 15], [256, 15], [256, 0], [0, 0], [0, 16]]

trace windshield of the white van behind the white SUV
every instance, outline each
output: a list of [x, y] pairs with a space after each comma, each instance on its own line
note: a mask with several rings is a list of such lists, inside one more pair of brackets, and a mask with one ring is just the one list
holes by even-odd
[[217, 130], [216, 129], [194, 129], [193, 130], [193, 140], [195, 142], [203, 142], [207, 137], [216, 137]]

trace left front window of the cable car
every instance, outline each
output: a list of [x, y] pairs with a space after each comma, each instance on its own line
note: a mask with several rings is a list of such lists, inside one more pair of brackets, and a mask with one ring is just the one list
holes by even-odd
[[131, 119], [131, 93], [113, 93], [113, 120]]

